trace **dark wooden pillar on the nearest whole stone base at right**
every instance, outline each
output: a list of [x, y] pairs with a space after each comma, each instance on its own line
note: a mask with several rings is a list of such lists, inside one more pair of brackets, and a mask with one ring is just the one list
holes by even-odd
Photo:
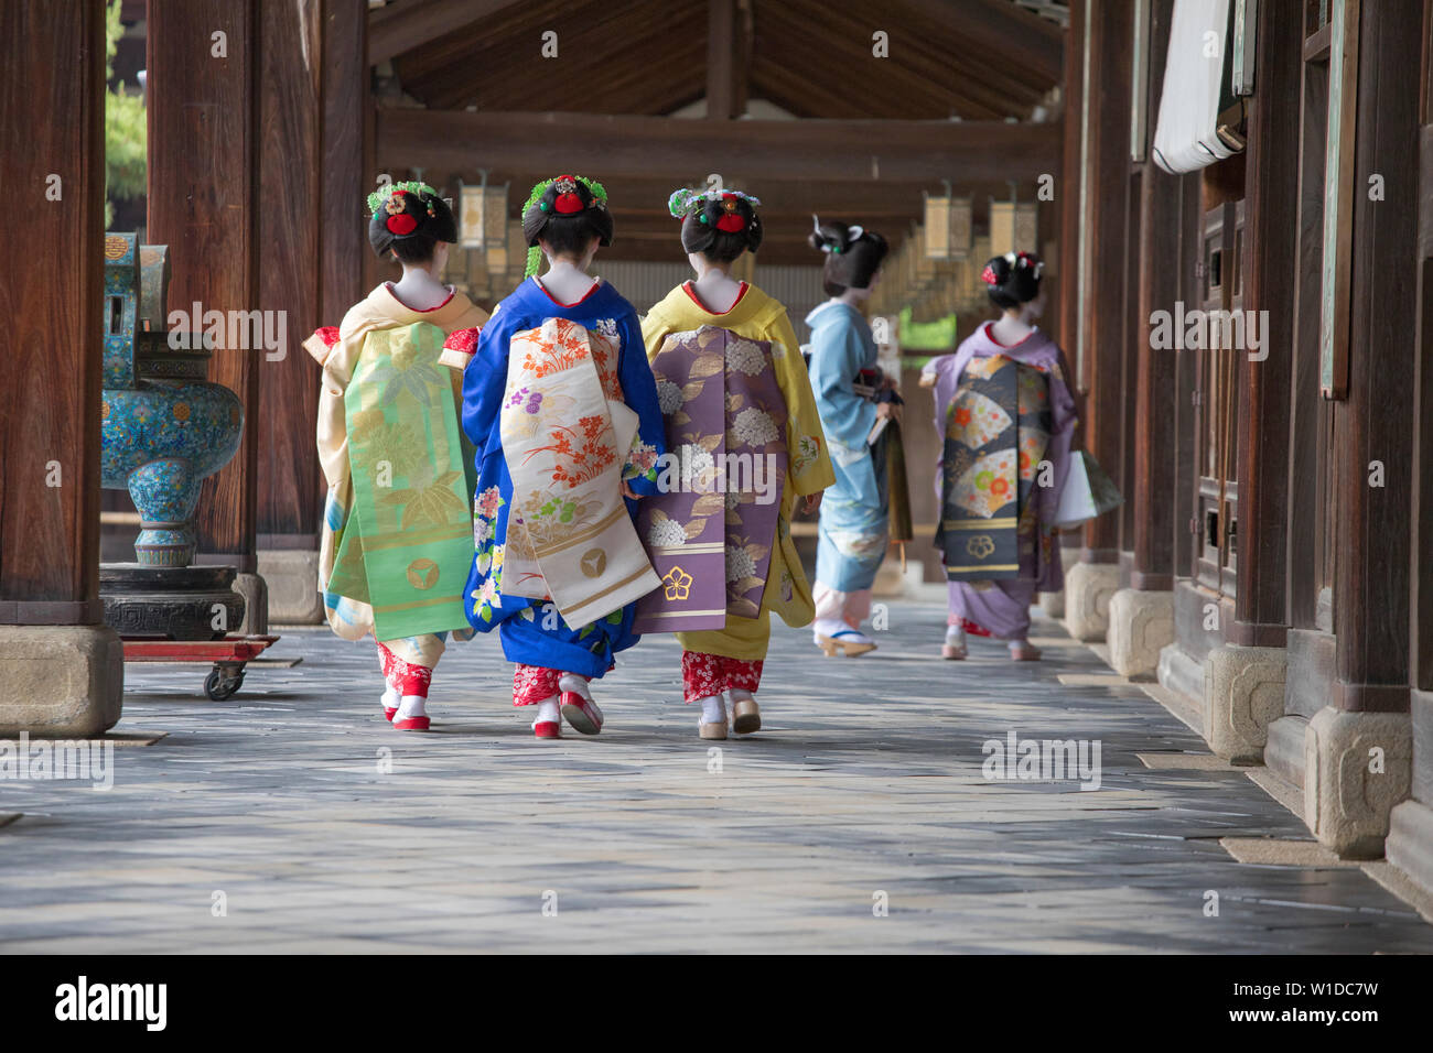
[[[1348, 397], [1336, 413], [1338, 544], [1334, 574], [1337, 679], [1343, 711], [1409, 708], [1410, 437], [1414, 434], [1419, 69], [1409, 32], [1422, 0], [1363, 3], [1353, 193]], [[1369, 199], [1380, 175], [1384, 199]], [[1370, 486], [1370, 464], [1383, 486]]]

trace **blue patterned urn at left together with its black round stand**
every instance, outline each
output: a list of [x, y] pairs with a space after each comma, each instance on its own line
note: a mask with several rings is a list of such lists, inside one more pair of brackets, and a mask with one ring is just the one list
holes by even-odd
[[[165, 330], [169, 255], [105, 236], [100, 484], [139, 511], [135, 563], [100, 566], [105, 620], [123, 636], [214, 639], [244, 620], [235, 569], [191, 566], [199, 484], [239, 448], [244, 407], [206, 380], [212, 341]], [[175, 337], [175, 340], [171, 340]]]

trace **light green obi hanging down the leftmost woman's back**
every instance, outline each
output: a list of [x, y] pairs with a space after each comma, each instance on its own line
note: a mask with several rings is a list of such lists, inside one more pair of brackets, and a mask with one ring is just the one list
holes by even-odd
[[370, 332], [344, 393], [353, 506], [328, 590], [368, 603], [378, 640], [467, 628], [473, 458], [443, 341], [430, 322]]

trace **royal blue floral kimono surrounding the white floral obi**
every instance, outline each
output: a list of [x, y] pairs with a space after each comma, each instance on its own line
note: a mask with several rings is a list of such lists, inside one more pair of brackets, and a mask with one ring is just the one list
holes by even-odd
[[[550, 600], [513, 596], [502, 589], [513, 499], [500, 431], [509, 351], [514, 334], [536, 330], [552, 318], [567, 319], [616, 344], [620, 398], [638, 415], [638, 437], [622, 476], [635, 493], [656, 493], [656, 458], [665, 448], [663, 423], [636, 311], [606, 282], [595, 285], [579, 302], [563, 305], [536, 278], [527, 278], [493, 308], [463, 374], [463, 430], [477, 447], [474, 556], [464, 609], [480, 632], [502, 626], [503, 653], [510, 662], [600, 678], [612, 666], [613, 655], [639, 639], [632, 632], [635, 603], [575, 630]], [[635, 519], [636, 503], [625, 503]]]

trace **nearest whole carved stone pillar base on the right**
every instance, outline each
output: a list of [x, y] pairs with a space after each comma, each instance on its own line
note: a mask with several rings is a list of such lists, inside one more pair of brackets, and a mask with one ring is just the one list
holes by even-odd
[[[1407, 713], [1350, 713], [1327, 706], [1304, 735], [1304, 822], [1351, 860], [1377, 860], [1393, 807], [1409, 795], [1413, 725]], [[1419, 825], [1413, 809], [1400, 819]]]

